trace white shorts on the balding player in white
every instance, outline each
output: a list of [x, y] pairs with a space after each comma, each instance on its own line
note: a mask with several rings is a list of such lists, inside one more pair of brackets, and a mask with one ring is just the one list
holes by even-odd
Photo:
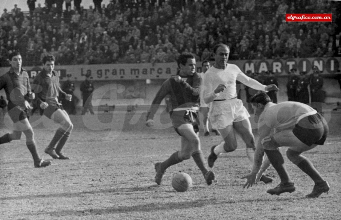
[[210, 122], [213, 129], [223, 129], [233, 122], [248, 119], [250, 114], [240, 99], [213, 101], [210, 107]]

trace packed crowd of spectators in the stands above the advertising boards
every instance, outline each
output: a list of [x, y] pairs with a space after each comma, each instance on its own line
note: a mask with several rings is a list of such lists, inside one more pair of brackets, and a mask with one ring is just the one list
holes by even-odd
[[[52, 54], [58, 65], [175, 62], [182, 52], [211, 59], [217, 43], [230, 60], [341, 56], [337, 1], [317, 0], [28, 0], [0, 20], [0, 65], [19, 51], [23, 66]], [[285, 13], [332, 13], [333, 22], [285, 22]]]

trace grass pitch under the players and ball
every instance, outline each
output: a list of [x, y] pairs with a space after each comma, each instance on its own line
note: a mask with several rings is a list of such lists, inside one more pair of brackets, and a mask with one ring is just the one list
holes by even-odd
[[[327, 143], [304, 153], [330, 184], [329, 194], [316, 199], [305, 198], [313, 182], [286, 157], [295, 192], [266, 193], [280, 181], [272, 167], [267, 173], [274, 182], [243, 189], [245, 180], [240, 177], [249, 173], [251, 164], [240, 138], [236, 151], [216, 161], [216, 184], [207, 186], [190, 159], [169, 167], [162, 185], [157, 186], [154, 162], [165, 160], [180, 145], [179, 136], [169, 127], [168, 115], [157, 116], [161, 124], [155, 129], [144, 126], [145, 112], [140, 111], [71, 116], [74, 131], [64, 153], [72, 159], [66, 161], [53, 160], [43, 152], [57, 127], [33, 116], [30, 121], [39, 153], [52, 164], [33, 168], [24, 135], [20, 141], [0, 146], [1, 220], [340, 219], [340, 110], [325, 114], [330, 128]], [[0, 124], [0, 135], [10, 131], [6, 117]], [[200, 134], [207, 157], [221, 137]], [[172, 188], [172, 175], [179, 171], [192, 177], [190, 191], [179, 193]]]

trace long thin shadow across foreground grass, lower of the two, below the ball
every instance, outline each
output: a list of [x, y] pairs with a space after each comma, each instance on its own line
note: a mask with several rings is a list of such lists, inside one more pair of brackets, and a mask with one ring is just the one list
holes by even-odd
[[[302, 200], [301, 198], [280, 198], [277, 201], [295, 201]], [[270, 199], [248, 199], [248, 200], [214, 200], [214, 199], [198, 199], [186, 202], [168, 202], [168, 203], [148, 203], [136, 206], [118, 206], [118, 207], [107, 207], [107, 208], [89, 208], [83, 210], [60, 210], [51, 211], [44, 214], [50, 216], [85, 216], [85, 215], [106, 215], [106, 214], [122, 214], [122, 213], [132, 213], [132, 212], [155, 212], [155, 211], [169, 211], [169, 210], [179, 210], [179, 209], [189, 209], [193, 207], [205, 207], [207, 205], [223, 205], [223, 204], [235, 204], [240, 203], [244, 205], [245, 203], [253, 202], [269, 202]], [[28, 213], [32, 215], [32, 213]], [[36, 213], [33, 215], [40, 215]]]

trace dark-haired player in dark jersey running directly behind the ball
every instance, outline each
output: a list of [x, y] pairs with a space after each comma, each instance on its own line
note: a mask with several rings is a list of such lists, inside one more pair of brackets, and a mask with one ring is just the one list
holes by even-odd
[[191, 53], [182, 53], [178, 58], [179, 71], [167, 79], [156, 94], [147, 113], [146, 125], [154, 125], [154, 114], [166, 95], [170, 96], [172, 120], [175, 131], [181, 136], [181, 149], [174, 152], [167, 160], [155, 163], [155, 182], [160, 185], [162, 176], [169, 166], [193, 157], [204, 175], [207, 185], [214, 180], [212, 171], [207, 170], [203, 152], [200, 148], [199, 131], [199, 87], [201, 77], [195, 72], [195, 58]]

